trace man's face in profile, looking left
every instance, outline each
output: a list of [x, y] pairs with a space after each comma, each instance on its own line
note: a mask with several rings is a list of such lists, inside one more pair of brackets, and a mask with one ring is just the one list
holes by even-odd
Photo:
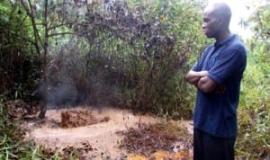
[[220, 19], [211, 11], [203, 13], [202, 31], [208, 38], [216, 38], [220, 31]]

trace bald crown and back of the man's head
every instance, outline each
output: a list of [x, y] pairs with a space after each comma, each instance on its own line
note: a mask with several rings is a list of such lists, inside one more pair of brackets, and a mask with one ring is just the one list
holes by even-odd
[[208, 5], [204, 10], [204, 13], [210, 13], [216, 18], [219, 18], [222, 21], [224, 27], [229, 27], [231, 11], [228, 4], [225, 3], [214, 3]]

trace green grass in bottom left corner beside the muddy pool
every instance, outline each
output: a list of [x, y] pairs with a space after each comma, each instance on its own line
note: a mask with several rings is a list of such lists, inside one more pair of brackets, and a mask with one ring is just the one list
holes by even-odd
[[9, 111], [0, 99], [0, 159], [46, 159], [41, 147], [31, 141], [23, 141], [24, 131], [19, 121], [12, 120]]

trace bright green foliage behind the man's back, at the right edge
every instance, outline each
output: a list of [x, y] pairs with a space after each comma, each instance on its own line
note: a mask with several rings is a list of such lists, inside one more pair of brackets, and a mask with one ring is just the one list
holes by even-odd
[[251, 159], [270, 157], [269, 5], [250, 17], [256, 35], [249, 42], [247, 70], [239, 108], [237, 153]]

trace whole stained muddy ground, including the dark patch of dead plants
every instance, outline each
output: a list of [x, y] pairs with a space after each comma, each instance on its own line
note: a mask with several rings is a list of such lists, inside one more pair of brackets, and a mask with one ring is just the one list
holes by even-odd
[[192, 159], [190, 121], [135, 115], [115, 108], [79, 106], [48, 110], [44, 120], [26, 116], [25, 138], [49, 152], [79, 159]]

